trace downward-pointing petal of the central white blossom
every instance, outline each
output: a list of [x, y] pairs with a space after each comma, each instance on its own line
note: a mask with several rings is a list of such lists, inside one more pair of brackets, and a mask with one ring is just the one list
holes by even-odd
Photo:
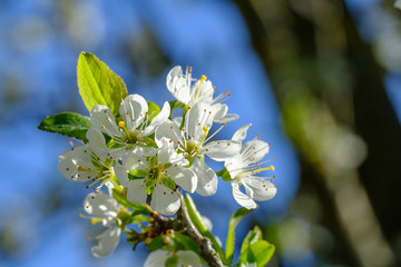
[[197, 176], [196, 192], [200, 196], [212, 196], [217, 190], [217, 176], [203, 160], [196, 158], [190, 169]]

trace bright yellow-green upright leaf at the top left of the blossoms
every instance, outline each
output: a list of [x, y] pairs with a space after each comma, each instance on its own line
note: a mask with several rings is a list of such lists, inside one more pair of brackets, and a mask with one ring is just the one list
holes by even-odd
[[127, 97], [123, 79], [95, 55], [81, 52], [77, 66], [79, 95], [90, 111], [96, 105], [105, 105], [117, 116], [121, 99]]

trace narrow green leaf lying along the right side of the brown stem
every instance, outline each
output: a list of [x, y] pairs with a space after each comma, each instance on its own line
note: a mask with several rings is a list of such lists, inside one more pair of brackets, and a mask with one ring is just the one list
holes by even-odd
[[223, 249], [221, 248], [221, 246], [218, 245], [217, 243], [217, 239], [215, 238], [215, 236], [209, 231], [207, 230], [206, 226], [204, 225], [204, 222], [202, 221], [202, 217], [200, 217], [200, 214], [199, 211], [196, 209], [196, 206], [194, 204], [194, 200], [192, 199], [192, 197], [189, 195], [186, 195], [185, 198], [184, 198], [184, 201], [185, 201], [185, 206], [187, 207], [187, 210], [188, 210], [188, 215], [189, 215], [189, 218], [192, 220], [192, 222], [194, 224], [194, 226], [196, 227], [196, 229], [198, 229], [198, 231], [211, 239], [212, 241], [212, 245], [213, 245], [213, 248], [216, 249], [216, 251], [219, 254], [223, 263], [225, 265], [228, 265], [226, 261], [225, 261], [225, 256], [224, 256], [224, 251]]

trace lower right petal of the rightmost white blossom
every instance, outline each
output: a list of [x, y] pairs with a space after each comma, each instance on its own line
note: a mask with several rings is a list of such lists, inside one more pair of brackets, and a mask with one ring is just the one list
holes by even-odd
[[243, 179], [246, 194], [256, 201], [266, 201], [277, 194], [277, 188], [273, 182], [261, 177], [250, 176]]

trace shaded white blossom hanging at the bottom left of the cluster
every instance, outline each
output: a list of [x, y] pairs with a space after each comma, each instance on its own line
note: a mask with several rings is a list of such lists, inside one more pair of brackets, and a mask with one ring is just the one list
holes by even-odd
[[[95, 237], [97, 245], [91, 248], [95, 257], [110, 255], [117, 247], [121, 229], [117, 226], [118, 204], [113, 197], [99, 192], [89, 194], [84, 200], [84, 209], [92, 224], [101, 222], [107, 229]], [[82, 216], [84, 217], [84, 216]]]

